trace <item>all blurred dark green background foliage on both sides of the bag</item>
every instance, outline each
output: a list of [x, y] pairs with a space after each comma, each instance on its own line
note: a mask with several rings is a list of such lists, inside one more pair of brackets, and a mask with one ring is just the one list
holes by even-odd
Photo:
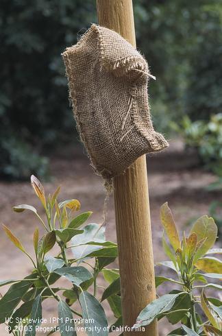
[[[97, 22], [93, 0], [1, 0], [0, 176], [47, 171], [58, 144], [75, 141], [60, 54]], [[221, 111], [221, 0], [134, 0], [138, 49], [157, 81], [149, 86], [153, 122]], [[73, 140], [71, 140], [73, 139]], [[44, 149], [44, 150], [43, 150]]]

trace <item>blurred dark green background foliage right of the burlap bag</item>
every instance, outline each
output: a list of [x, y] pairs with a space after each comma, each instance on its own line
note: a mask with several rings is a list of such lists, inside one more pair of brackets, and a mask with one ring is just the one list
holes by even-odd
[[222, 1], [138, 0], [135, 16], [138, 47], [157, 77], [149, 88], [156, 127], [168, 134], [185, 114], [221, 112]]

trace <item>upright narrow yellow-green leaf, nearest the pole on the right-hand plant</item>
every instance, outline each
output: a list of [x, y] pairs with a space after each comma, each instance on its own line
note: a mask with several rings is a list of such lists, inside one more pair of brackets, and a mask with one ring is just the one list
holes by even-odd
[[160, 219], [162, 221], [162, 226], [167, 233], [169, 241], [173, 246], [173, 249], [176, 251], [178, 248], [180, 248], [180, 238], [177, 232], [177, 228], [175, 227], [171, 209], [169, 208], [167, 202], [164, 203], [160, 208]]

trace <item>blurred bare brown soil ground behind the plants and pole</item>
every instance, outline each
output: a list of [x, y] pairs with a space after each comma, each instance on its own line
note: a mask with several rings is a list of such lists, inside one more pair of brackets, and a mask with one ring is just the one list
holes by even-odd
[[[45, 190], [52, 193], [58, 185], [62, 186], [60, 199], [77, 198], [82, 204], [82, 211], [93, 211], [93, 222], [103, 220], [104, 189], [101, 178], [93, 173], [84, 149], [64, 148], [58, 155], [50, 158], [51, 181], [45, 182]], [[180, 230], [188, 230], [190, 219], [208, 213], [212, 200], [219, 200], [222, 195], [209, 193], [205, 187], [214, 182], [215, 177], [197, 167], [198, 159], [195, 153], [184, 151], [181, 141], [171, 141], [171, 146], [164, 153], [147, 157], [149, 196], [151, 207], [151, 224], [153, 235], [153, 252], [156, 262], [166, 259], [160, 248], [162, 228], [159, 218], [161, 204], [168, 201], [173, 210], [175, 221]], [[23, 241], [25, 248], [32, 254], [32, 235], [38, 221], [28, 211], [14, 213], [12, 206], [17, 204], [32, 204], [42, 210], [29, 182], [0, 182], [0, 221], [7, 225], [16, 236]], [[108, 225], [106, 236], [108, 240], [116, 241], [114, 224], [114, 203], [110, 197], [108, 204]], [[29, 260], [5, 237], [0, 235], [0, 279], [23, 278], [32, 269]], [[160, 267], [156, 269], [161, 273]], [[166, 270], [162, 271], [166, 274]], [[102, 280], [101, 280], [102, 281]], [[1, 287], [4, 293], [6, 287]], [[164, 290], [166, 287], [164, 287]], [[160, 290], [161, 292], [161, 290]], [[56, 315], [56, 304], [51, 301], [44, 304], [45, 316]], [[108, 307], [105, 307], [108, 309]], [[110, 312], [108, 312], [110, 315]], [[159, 326], [160, 336], [166, 336], [172, 326], [164, 321]], [[0, 326], [0, 335], [8, 335], [4, 326]], [[38, 333], [38, 335], [46, 335]], [[55, 334], [56, 335], [56, 334]], [[80, 334], [79, 334], [80, 335]]]

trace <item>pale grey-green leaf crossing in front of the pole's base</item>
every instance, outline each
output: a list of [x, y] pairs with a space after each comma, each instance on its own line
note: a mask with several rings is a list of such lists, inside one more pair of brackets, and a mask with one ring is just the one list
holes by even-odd
[[162, 315], [162, 313], [170, 311], [175, 304], [176, 298], [182, 294], [184, 294], [184, 292], [166, 294], [148, 304], [147, 307], [145, 307], [145, 309], [140, 312], [140, 315], [138, 315], [133, 328], [135, 329], [139, 328], [140, 326], [147, 326], [153, 322], [154, 319]]

